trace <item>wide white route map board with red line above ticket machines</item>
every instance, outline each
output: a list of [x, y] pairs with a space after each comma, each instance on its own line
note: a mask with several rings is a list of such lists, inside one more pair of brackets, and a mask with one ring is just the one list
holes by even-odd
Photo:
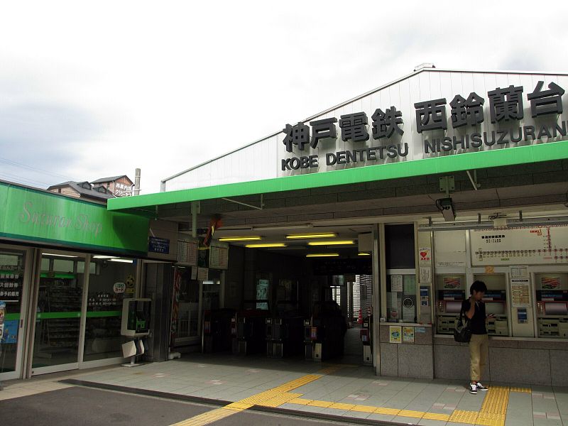
[[472, 230], [470, 236], [473, 266], [568, 263], [568, 226]]

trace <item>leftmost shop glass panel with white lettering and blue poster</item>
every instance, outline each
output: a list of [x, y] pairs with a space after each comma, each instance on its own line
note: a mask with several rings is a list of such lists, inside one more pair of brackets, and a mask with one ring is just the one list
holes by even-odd
[[0, 249], [0, 373], [16, 369], [24, 255]]

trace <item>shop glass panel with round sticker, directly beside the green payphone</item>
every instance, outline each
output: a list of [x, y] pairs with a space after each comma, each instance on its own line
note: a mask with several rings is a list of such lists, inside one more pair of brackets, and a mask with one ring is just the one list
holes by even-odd
[[136, 266], [119, 260], [91, 259], [83, 361], [122, 356], [122, 300], [133, 297]]

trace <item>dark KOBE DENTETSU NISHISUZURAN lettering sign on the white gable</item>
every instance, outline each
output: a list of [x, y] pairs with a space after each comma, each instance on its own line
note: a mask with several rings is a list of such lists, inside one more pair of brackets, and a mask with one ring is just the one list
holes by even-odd
[[384, 104], [369, 111], [370, 120], [356, 111], [339, 120], [287, 124], [280, 170], [334, 170], [562, 140], [568, 131], [563, 95], [557, 82], [541, 80], [528, 93], [510, 84], [410, 106], [407, 100], [406, 111]]

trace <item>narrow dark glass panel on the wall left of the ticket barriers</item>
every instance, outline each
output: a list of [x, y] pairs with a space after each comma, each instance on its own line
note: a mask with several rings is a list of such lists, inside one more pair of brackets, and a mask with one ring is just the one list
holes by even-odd
[[178, 305], [178, 339], [199, 336], [200, 283], [191, 279], [191, 268], [178, 268], [180, 293]]

